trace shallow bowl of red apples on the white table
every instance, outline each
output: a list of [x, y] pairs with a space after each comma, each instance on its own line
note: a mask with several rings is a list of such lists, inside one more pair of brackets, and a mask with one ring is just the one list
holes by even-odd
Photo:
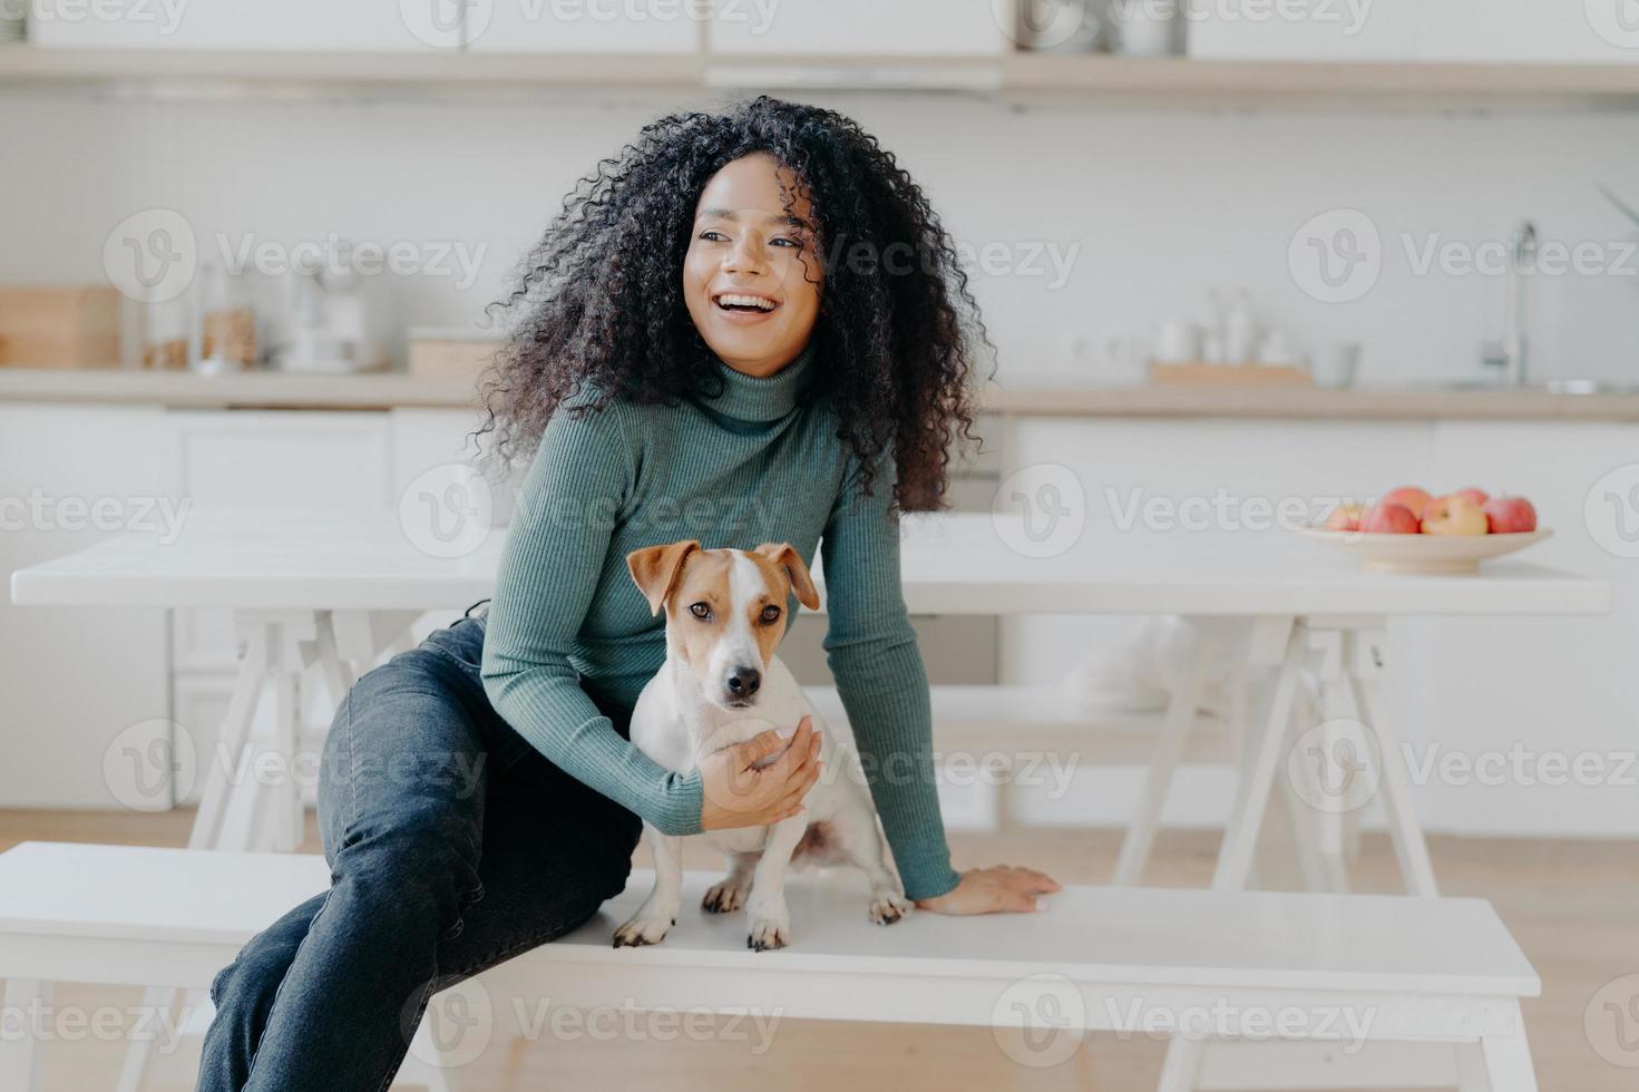
[[1369, 505], [1346, 502], [1321, 526], [1301, 528], [1360, 559], [1369, 569], [1393, 572], [1475, 572], [1488, 557], [1501, 557], [1552, 531], [1539, 528], [1536, 507], [1524, 497], [1459, 489], [1436, 497], [1403, 485]]

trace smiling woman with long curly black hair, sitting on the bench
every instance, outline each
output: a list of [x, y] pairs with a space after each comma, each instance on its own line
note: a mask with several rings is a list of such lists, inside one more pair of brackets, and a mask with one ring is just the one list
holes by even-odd
[[506, 305], [484, 431], [529, 471], [495, 598], [336, 712], [333, 885], [216, 977], [205, 1092], [385, 1089], [433, 992], [623, 890], [642, 820], [690, 835], [800, 807], [820, 776], [806, 718], [790, 746], [769, 731], [687, 776], [629, 743], [665, 657], [626, 574], [642, 546], [820, 549], [828, 661], [906, 895], [987, 913], [1057, 890], [957, 872], [939, 817], [897, 520], [944, 503], [983, 328], [895, 157], [772, 98], [662, 118], [577, 185]]

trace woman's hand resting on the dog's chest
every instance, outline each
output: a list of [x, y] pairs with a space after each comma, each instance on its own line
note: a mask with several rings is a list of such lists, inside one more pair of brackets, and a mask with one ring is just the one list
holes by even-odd
[[[780, 748], [785, 754], [760, 769], [756, 766]], [[803, 797], [820, 780], [823, 767], [811, 717], [797, 723], [797, 735], [788, 741], [770, 728], [708, 754], [700, 762], [700, 828], [769, 826], [790, 818], [801, 812]]]

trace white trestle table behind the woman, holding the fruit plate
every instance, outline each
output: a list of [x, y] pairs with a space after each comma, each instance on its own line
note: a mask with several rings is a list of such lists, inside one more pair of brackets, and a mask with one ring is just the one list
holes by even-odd
[[[123, 535], [18, 571], [11, 595], [20, 605], [231, 608], [246, 653], [218, 746], [229, 753], [244, 746], [267, 689], [275, 708], [270, 744], [293, 758], [305, 671], [318, 666], [328, 689], [344, 694], [356, 669], [416, 617], [490, 595], [502, 544], [503, 531], [495, 531], [467, 556], [434, 557], [413, 546], [395, 520], [195, 516], [169, 544]], [[1214, 876], [1219, 889], [1246, 882], [1277, 762], [1292, 739], [1300, 672], [1314, 654], [1323, 687], [1344, 703], [1352, 697], [1390, 759], [1382, 789], [1401, 871], [1408, 890], [1432, 895], [1410, 771], [1382, 697], [1387, 618], [1609, 608], [1603, 582], [1526, 561], [1493, 562], [1480, 576], [1373, 574], [1296, 536], [1088, 535], [1057, 556], [1028, 557], [1008, 546], [988, 515], [908, 516], [901, 572], [913, 613], [1178, 613], [1210, 630], [1237, 628], [1246, 661], [1275, 669], [1277, 682], [1226, 831]], [[815, 577], [823, 598], [823, 569]], [[1203, 654], [1193, 679], [1172, 698], [1116, 882], [1139, 879], [1193, 721], [1205, 662]], [[225, 825], [236, 790], [225, 764], [211, 762], [190, 844], [295, 849], [302, 807], [293, 779], [287, 780], [287, 790], [272, 792], [272, 826], [259, 836], [259, 805], [236, 808], [239, 818]], [[249, 779], [244, 789], [266, 785]], [[1323, 885], [1339, 887], [1339, 877]]]

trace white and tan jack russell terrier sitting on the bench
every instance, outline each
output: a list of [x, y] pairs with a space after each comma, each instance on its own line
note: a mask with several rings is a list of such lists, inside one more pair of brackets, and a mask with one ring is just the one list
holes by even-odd
[[[787, 866], [852, 864], [870, 880], [870, 920], [892, 925], [905, 917], [911, 903], [887, 864], [859, 756], [849, 739], [824, 726], [774, 654], [785, 635], [788, 597], [795, 592], [803, 607], [820, 607], [797, 549], [787, 543], [751, 551], [701, 549], [690, 539], [634, 549], [626, 567], [651, 613], [665, 610], [665, 664], [642, 689], [631, 715], [631, 741], [639, 751], [665, 769], [688, 772], [706, 754], [769, 728], [779, 726], [788, 738], [808, 715], [815, 731], [823, 733], [820, 759], [833, 771], [808, 790], [806, 810], [798, 815], [772, 826], [705, 831], [728, 854], [729, 872], [706, 892], [701, 907], [729, 913], [744, 905], [746, 946], [783, 948], [792, 938]], [[677, 923], [683, 839], [649, 823], [644, 835], [654, 851], [654, 890], [615, 931], [616, 948], [659, 944]]]

